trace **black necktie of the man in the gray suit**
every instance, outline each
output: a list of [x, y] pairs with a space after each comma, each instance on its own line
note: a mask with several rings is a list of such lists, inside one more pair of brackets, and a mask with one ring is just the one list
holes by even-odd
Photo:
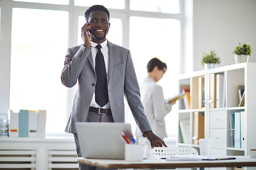
[[95, 58], [95, 71], [97, 75], [96, 87], [95, 87], [95, 101], [100, 107], [103, 107], [109, 102], [108, 87], [106, 85], [106, 67], [101, 53], [101, 45], [96, 46], [98, 52]]

